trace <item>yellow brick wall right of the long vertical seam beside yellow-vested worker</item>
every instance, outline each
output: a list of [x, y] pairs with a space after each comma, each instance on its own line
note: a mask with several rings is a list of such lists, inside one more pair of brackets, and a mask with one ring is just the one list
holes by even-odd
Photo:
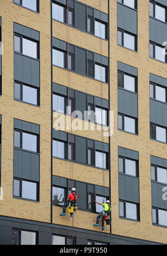
[[[138, 52], [117, 46], [117, 3], [110, 4], [110, 106], [112, 234], [166, 243], [165, 227], [154, 226], [151, 215], [150, 155], [166, 159], [167, 146], [150, 140], [149, 73], [167, 78], [166, 64], [149, 58], [149, 1], [138, 2]], [[113, 54], [114, 53], [114, 54]], [[138, 69], [139, 135], [117, 130], [117, 61]], [[139, 151], [140, 222], [119, 219], [118, 146]]]

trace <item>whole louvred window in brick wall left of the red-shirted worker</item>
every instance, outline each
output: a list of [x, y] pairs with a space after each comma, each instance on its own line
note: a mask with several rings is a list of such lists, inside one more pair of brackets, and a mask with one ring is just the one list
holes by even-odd
[[36, 182], [13, 179], [13, 196], [38, 201], [38, 184]]

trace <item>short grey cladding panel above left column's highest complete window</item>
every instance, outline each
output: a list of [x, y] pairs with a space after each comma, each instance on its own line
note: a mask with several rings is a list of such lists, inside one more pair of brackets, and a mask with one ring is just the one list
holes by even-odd
[[30, 37], [31, 39], [40, 41], [40, 32], [30, 29], [29, 27], [19, 25], [18, 23], [15, 23], [15, 22], [14, 22], [14, 32], [21, 34], [23, 36]]

